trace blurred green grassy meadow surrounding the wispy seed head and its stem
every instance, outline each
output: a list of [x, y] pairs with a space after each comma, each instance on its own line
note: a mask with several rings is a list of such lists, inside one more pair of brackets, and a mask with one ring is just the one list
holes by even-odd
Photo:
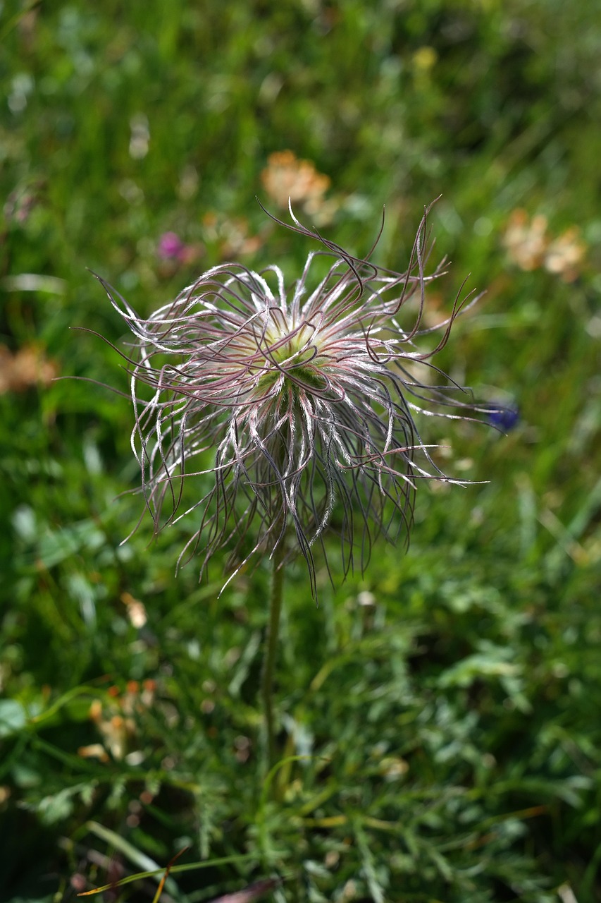
[[[187, 845], [205, 867], [164, 899], [280, 875], [279, 903], [600, 900], [594, 0], [5, 2], [0, 38], [0, 898], [70, 900]], [[261, 173], [288, 148], [329, 176], [344, 247], [365, 253], [386, 204], [393, 268], [442, 195], [431, 303], [468, 274], [488, 291], [440, 366], [521, 416], [434, 433], [490, 482], [422, 489], [408, 554], [378, 545], [337, 591], [321, 569], [319, 610], [287, 573], [281, 740], [309, 758], [274, 793], [268, 570], [217, 600], [219, 562], [174, 578], [185, 525], [119, 545], [141, 511], [116, 500], [139, 479], [129, 405], [47, 377], [126, 390], [116, 353], [69, 331], [123, 333], [87, 267], [139, 312], [233, 251], [293, 280], [310, 248], [254, 200], [277, 210]], [[508, 254], [515, 209], [579, 228], [571, 281]], [[183, 260], [158, 255], [167, 231]]]

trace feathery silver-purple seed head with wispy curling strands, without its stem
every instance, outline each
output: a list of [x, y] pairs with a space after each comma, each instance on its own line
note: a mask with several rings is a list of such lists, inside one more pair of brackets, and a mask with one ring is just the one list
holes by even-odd
[[[146, 504], [157, 529], [196, 518], [180, 560], [200, 548], [207, 563], [233, 545], [236, 573], [291, 534], [286, 554], [293, 546], [304, 556], [315, 594], [312, 546], [328, 526], [347, 573], [357, 550], [365, 566], [378, 533], [408, 535], [420, 479], [448, 480], [414, 414], [458, 417], [474, 406], [430, 362], [463, 303], [421, 329], [425, 287], [440, 274], [424, 273], [426, 214], [402, 274], [372, 264], [372, 252], [347, 254], [291, 214], [288, 228], [322, 246], [291, 288], [277, 266], [218, 265], [144, 319], [100, 280], [134, 333], [132, 446]], [[324, 256], [333, 263], [311, 283]], [[421, 348], [435, 329], [434, 347]], [[180, 512], [190, 479], [199, 496]]]

